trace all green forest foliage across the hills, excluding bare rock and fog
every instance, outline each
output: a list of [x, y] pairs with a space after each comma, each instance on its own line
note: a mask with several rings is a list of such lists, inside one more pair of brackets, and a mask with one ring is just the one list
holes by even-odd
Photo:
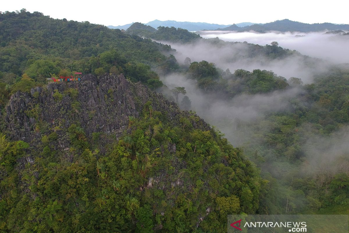
[[[183, 29], [154, 31], [139, 24], [128, 35], [25, 10], [1, 13], [0, 22], [1, 106], [17, 90], [29, 92], [46, 77], [75, 70], [98, 76], [108, 71], [125, 73], [132, 81], [156, 89], [162, 82], [153, 69], [177, 71], [177, 60], [162, 55], [172, 52], [170, 46], [134, 34], [181, 42], [199, 38]], [[222, 43], [219, 39], [209, 42]], [[290, 54], [274, 42], [246, 46], [251, 57], [266, 54], [274, 59]], [[191, 63], [190, 59], [186, 68], [205, 93], [222, 98], [289, 88], [283, 77], [271, 71], [232, 74], [213, 63]], [[261, 167], [263, 179], [244, 159], [242, 149], [232, 147], [221, 133], [202, 126], [197, 116], [188, 113], [166, 118], [156, 100], [146, 102], [139, 117], [128, 116], [122, 136], [121, 132], [85, 132], [80, 122], [72, 120], [68, 129], [52, 132], [39, 121], [36, 104], [25, 112], [37, 120], [30, 147], [0, 136], [0, 232], [212, 232], [213, 226], [225, 232], [227, 214], [304, 213], [347, 206], [345, 155], [334, 161], [338, 169], [323, 169], [321, 176], [299, 174], [299, 167], [306, 163], [302, 147], [308, 135], [327, 137], [348, 123], [348, 79], [348, 72], [339, 68], [318, 75], [309, 85], [290, 78], [290, 85], [303, 92], [287, 100], [282, 112], [236, 126], [236, 131], [252, 132], [243, 150]], [[186, 94], [184, 87], [172, 92], [177, 103], [179, 95]], [[112, 93], [110, 89], [108, 94]], [[64, 94], [55, 90], [53, 96], [56, 101], [69, 96], [72, 111], [81, 110], [77, 89]], [[33, 97], [37, 100], [39, 93]], [[188, 110], [190, 105], [184, 96], [181, 106]], [[94, 116], [90, 111], [89, 118]], [[69, 145], [65, 150], [57, 147], [61, 140]]]

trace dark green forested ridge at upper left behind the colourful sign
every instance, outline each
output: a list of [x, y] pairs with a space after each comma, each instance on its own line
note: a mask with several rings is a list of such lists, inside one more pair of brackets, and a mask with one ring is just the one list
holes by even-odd
[[[165, 64], [162, 52], [171, 51], [168, 45], [120, 30], [87, 21], [51, 19], [39, 12], [0, 13], [0, 22], [1, 79], [9, 84], [24, 72], [46, 83], [52, 75], [66, 77], [74, 71], [98, 76], [108, 71], [125, 73], [124, 66], [131, 61], [156, 68]], [[150, 77], [158, 79], [150, 72], [139, 75], [148, 77], [144, 83]]]

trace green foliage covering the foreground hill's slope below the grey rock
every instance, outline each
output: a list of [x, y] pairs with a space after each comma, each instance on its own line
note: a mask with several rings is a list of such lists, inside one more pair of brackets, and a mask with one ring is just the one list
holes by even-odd
[[[9, 171], [0, 178], [1, 230], [210, 232], [214, 225], [224, 232], [226, 214], [254, 213], [260, 177], [242, 151], [219, 133], [194, 127], [194, 115], [178, 112], [173, 125], [155, 109], [156, 99], [145, 103], [121, 137], [102, 140], [74, 122], [46, 129], [30, 148], [0, 138], [0, 166]], [[55, 149], [62, 140], [68, 148]], [[17, 156], [29, 161], [20, 177]]]

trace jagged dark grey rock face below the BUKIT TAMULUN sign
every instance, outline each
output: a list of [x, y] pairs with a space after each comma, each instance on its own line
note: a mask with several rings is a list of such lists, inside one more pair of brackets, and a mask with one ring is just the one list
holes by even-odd
[[[88, 135], [121, 133], [127, 129], [129, 116], [139, 117], [147, 101], [152, 102], [153, 111], [161, 111], [174, 125], [179, 124], [181, 116], [188, 116], [176, 103], [126, 80], [122, 74], [99, 78], [87, 74], [81, 81], [52, 83], [33, 88], [30, 93], [17, 92], [6, 107], [5, 122], [11, 139], [27, 142], [38, 138], [44, 129], [67, 129], [73, 123], [80, 123]], [[193, 126], [210, 129], [202, 119], [193, 122]], [[60, 147], [67, 145], [61, 143]]]

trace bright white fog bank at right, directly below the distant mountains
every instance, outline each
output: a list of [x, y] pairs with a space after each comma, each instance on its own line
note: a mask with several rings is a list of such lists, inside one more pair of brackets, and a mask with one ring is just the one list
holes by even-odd
[[335, 63], [349, 63], [349, 35], [323, 32], [234, 32], [200, 31], [203, 38], [220, 38], [223, 41], [239, 41], [266, 45], [277, 41], [279, 46], [297, 50], [303, 55], [326, 59]]

